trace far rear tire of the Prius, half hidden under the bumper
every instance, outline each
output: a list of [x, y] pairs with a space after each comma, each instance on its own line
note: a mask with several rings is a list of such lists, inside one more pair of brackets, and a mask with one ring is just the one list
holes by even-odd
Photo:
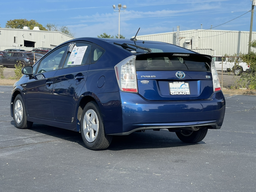
[[182, 130], [176, 132], [178, 138], [185, 143], [198, 143], [205, 138], [208, 129], [199, 129], [198, 131]]

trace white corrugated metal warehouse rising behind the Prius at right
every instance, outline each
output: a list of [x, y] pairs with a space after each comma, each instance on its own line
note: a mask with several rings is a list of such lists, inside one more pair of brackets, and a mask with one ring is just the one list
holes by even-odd
[[[187, 30], [152, 35], [140, 35], [140, 40], [162, 41], [207, 55], [248, 53], [249, 31]], [[252, 40], [256, 32], [252, 33]], [[252, 48], [252, 51], [256, 49]]]

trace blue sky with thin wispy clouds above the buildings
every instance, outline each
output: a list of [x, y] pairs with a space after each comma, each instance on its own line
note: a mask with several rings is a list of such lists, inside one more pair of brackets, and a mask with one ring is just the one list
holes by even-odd
[[[118, 11], [112, 5], [126, 5], [120, 12], [120, 34], [126, 38], [177, 30], [209, 29], [250, 11], [250, 0], [13, 0], [1, 1], [0, 27], [10, 19], [35, 19], [45, 26], [67, 26], [75, 37], [118, 34]], [[116, 10], [118, 10], [116, 8]], [[121, 9], [123, 10], [123, 9]], [[215, 27], [217, 30], [250, 30], [251, 13]], [[256, 8], [253, 31], [256, 30]]]

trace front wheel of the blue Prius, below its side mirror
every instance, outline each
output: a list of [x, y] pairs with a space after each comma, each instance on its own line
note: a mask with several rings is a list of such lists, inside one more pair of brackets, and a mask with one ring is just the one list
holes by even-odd
[[33, 122], [27, 121], [26, 109], [21, 94], [18, 94], [14, 99], [13, 118], [18, 129], [29, 129], [33, 125]]

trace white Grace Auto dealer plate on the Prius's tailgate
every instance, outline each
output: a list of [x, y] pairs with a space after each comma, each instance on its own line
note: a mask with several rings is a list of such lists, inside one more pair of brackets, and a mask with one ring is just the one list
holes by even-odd
[[189, 83], [169, 82], [170, 95], [190, 95]]

